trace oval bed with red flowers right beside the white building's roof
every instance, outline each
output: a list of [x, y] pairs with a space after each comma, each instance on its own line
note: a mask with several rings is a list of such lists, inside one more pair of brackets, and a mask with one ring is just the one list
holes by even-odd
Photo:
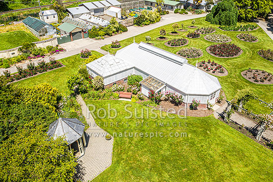
[[226, 68], [210, 60], [199, 62], [198, 68], [215, 76], [226, 76], [228, 74]]

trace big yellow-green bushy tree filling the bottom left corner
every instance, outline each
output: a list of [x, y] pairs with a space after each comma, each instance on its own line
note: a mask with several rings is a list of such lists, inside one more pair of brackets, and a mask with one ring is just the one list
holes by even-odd
[[0, 145], [1, 182], [72, 182], [76, 158], [63, 138], [21, 129]]

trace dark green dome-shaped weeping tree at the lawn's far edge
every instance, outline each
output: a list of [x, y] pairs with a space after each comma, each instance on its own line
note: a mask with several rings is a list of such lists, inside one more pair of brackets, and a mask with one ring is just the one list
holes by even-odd
[[205, 17], [205, 20], [216, 25], [236, 25], [238, 19], [238, 10], [233, 0], [222, 0], [213, 6], [211, 12]]

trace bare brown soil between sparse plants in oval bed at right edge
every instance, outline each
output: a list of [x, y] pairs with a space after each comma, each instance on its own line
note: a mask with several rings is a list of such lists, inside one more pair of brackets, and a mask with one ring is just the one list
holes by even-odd
[[[245, 73], [247, 73], [247, 75], [245, 75]], [[253, 74], [256, 73], [258, 75], [258, 80], [259, 82], [254, 81], [253, 78]], [[270, 73], [271, 74], [271, 73]], [[271, 81], [269, 81], [269, 78], [272, 76], [268, 75], [268, 72], [263, 73], [262, 70], [258, 70], [258, 72], [256, 72], [256, 69], [252, 69], [252, 72], [249, 72], [248, 70], [245, 70], [243, 72], [241, 72], [241, 75], [247, 79], [248, 81], [252, 82], [252, 83], [256, 83], [256, 84], [264, 84], [264, 85], [269, 85], [269, 84], [273, 84], [273, 79], [271, 79]], [[264, 75], [268, 75], [268, 78], [264, 81], [261, 82], [260, 78], [264, 77]]]

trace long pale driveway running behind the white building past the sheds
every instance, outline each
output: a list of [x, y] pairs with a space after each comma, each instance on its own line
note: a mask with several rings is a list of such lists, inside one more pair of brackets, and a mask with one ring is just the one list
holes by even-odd
[[[194, 14], [194, 15], [179, 14], [179, 13], [166, 14], [166, 15], [162, 16], [160, 22], [150, 24], [147, 26], [143, 26], [143, 27], [130, 26], [130, 27], [128, 27], [128, 32], [124, 32], [122, 34], [108, 37], [104, 40], [94, 40], [94, 39], [85, 38], [85, 39], [79, 39], [79, 40], [75, 40], [75, 41], [68, 42], [65, 44], [61, 44], [61, 46], [64, 49], [66, 49], [67, 52], [59, 54], [59, 55], [54, 55], [53, 57], [55, 57], [56, 60], [60, 60], [63, 58], [67, 58], [67, 57], [79, 54], [80, 51], [85, 48], [87, 48], [89, 50], [98, 51], [98, 52], [105, 55], [105, 54], [107, 54], [107, 52], [104, 50], [101, 50], [100, 48], [102, 46], [111, 44], [112, 41], [114, 41], [114, 40], [121, 41], [121, 40], [130, 38], [130, 37], [134, 37], [134, 36], [139, 35], [141, 33], [147, 32], [149, 30], [161, 27], [163, 25], [175, 23], [178, 21], [188, 20], [188, 19], [200, 18], [200, 17], [204, 17], [205, 15], [206, 14]], [[132, 43], [133, 43], [133, 40], [132, 40]], [[49, 58], [47, 57], [44, 60], [46, 62], [48, 62]], [[37, 61], [34, 61], [34, 62], [37, 62]], [[29, 63], [29, 62], [27, 62], [27, 63]], [[26, 68], [27, 63], [20, 64], [20, 66], [22, 66], [23, 68]], [[6, 70], [6, 69], [0, 68], [0, 74], [3, 74], [3, 70]], [[7, 70], [9, 70], [10, 73], [17, 72], [16, 66], [9, 67], [9, 68], [7, 68]]]

